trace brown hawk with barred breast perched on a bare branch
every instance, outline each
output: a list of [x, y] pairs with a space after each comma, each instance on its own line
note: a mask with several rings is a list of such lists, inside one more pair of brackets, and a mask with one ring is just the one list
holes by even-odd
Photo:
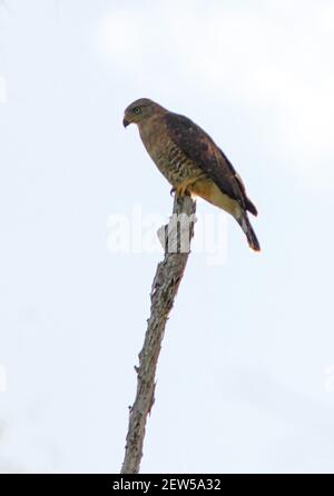
[[249, 247], [259, 242], [247, 211], [257, 215], [244, 182], [214, 140], [187, 117], [140, 98], [125, 110], [124, 126], [139, 128], [141, 141], [178, 196], [199, 196], [230, 214], [240, 225]]

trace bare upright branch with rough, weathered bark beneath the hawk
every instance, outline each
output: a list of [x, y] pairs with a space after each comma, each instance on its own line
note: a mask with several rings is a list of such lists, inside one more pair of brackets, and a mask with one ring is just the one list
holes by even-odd
[[[181, 281], [194, 236], [196, 204], [190, 197], [174, 199], [173, 216], [158, 236], [165, 258], [158, 264], [150, 292], [150, 317], [137, 371], [137, 394], [130, 408], [121, 474], [137, 474], [143, 456], [147, 416], [155, 401], [155, 377], [168, 315]], [[177, 221], [176, 221], [177, 220]]]

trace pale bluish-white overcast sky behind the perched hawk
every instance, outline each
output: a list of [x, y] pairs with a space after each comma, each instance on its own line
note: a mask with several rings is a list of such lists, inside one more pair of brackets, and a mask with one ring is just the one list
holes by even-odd
[[[1, 472], [119, 472], [173, 205], [121, 126], [140, 97], [219, 143], [263, 247], [198, 201], [223, 257], [190, 256], [141, 470], [334, 472], [333, 26], [331, 0], [1, 2]], [[115, 252], [136, 215], [151, 242]]]

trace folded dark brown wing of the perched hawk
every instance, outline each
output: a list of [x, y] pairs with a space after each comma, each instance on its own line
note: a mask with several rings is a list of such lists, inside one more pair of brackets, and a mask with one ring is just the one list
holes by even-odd
[[213, 139], [187, 117], [167, 112], [165, 119], [170, 139], [183, 152], [203, 169], [225, 195], [256, 216], [257, 210], [247, 198], [240, 177]]

